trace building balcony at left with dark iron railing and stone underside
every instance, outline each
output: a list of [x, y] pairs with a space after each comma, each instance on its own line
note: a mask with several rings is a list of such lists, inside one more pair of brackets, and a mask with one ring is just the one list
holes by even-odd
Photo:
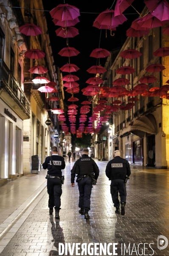
[[0, 59], [0, 87], [2, 87], [0, 98], [3, 99], [21, 119], [29, 119], [30, 102], [21, 89], [20, 84], [11, 74], [11, 71], [2, 59]]

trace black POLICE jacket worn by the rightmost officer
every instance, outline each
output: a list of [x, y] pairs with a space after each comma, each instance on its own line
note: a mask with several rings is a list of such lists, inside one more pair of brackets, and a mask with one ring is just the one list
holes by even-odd
[[130, 164], [124, 158], [115, 157], [107, 163], [106, 176], [109, 180], [125, 180], [126, 175], [130, 176], [130, 174]]

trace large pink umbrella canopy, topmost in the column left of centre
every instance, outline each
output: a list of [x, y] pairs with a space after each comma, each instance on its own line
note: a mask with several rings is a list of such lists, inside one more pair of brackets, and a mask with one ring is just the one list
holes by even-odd
[[79, 9], [68, 3], [59, 4], [50, 12], [51, 17], [58, 20], [74, 20], [80, 16]]

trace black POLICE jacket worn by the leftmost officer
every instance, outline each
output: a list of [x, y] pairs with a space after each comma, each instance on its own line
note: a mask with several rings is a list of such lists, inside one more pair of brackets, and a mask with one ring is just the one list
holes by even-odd
[[45, 162], [42, 164], [43, 169], [48, 169], [48, 175], [62, 177], [62, 171], [65, 169], [65, 159], [59, 155], [52, 155], [54, 168], [52, 168], [50, 157], [46, 157]]

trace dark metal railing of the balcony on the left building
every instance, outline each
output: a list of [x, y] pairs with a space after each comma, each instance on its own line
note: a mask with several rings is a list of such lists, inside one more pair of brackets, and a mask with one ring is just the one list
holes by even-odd
[[5, 62], [0, 59], [0, 85], [17, 102], [23, 111], [29, 116], [30, 102], [20, 87], [20, 84], [12, 75]]

